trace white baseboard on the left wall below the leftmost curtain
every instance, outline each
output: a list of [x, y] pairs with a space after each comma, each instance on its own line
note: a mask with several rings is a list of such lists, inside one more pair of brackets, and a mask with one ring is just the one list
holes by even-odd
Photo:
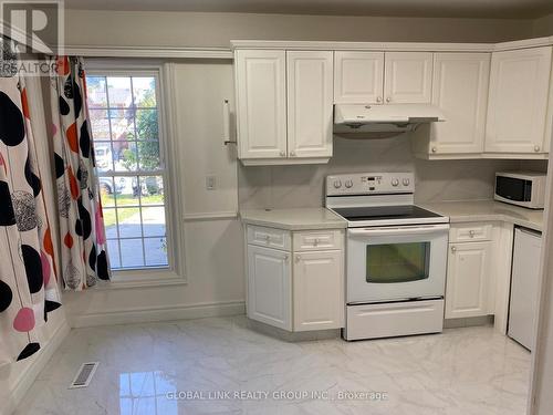
[[8, 396], [8, 402], [2, 403], [0, 406], [0, 414], [8, 415], [15, 411], [18, 405], [29, 392], [29, 388], [39, 376], [39, 373], [44, 369], [58, 347], [60, 347], [70, 330], [71, 329], [67, 322], [63, 321], [54, 331], [50, 341], [44, 343], [36, 356], [31, 357], [33, 359], [32, 363], [23, 370], [23, 373], [21, 373], [18, 383]]

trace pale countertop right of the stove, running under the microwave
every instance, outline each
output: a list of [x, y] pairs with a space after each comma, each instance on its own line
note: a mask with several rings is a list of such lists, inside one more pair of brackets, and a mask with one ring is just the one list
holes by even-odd
[[494, 200], [465, 200], [417, 204], [418, 206], [449, 216], [451, 224], [501, 220], [542, 231], [543, 210], [503, 204]]

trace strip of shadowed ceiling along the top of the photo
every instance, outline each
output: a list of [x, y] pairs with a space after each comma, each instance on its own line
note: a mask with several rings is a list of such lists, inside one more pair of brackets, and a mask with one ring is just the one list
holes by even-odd
[[332, 15], [539, 18], [553, 0], [65, 0], [67, 9]]

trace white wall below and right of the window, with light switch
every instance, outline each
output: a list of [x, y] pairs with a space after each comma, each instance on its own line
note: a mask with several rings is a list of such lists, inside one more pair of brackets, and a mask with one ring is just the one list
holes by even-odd
[[[233, 102], [230, 61], [175, 62], [175, 153], [184, 177], [177, 201], [184, 206], [186, 284], [131, 289], [92, 289], [64, 297], [73, 325], [184, 319], [243, 313], [242, 228], [238, 210], [233, 146], [222, 143], [222, 101]], [[206, 189], [216, 176], [216, 190]], [[222, 216], [222, 218], [215, 218]], [[197, 219], [190, 219], [197, 218]]]

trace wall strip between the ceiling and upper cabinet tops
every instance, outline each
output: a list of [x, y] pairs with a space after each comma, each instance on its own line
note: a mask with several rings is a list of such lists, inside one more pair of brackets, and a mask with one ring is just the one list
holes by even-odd
[[497, 42], [532, 37], [532, 21], [67, 10], [72, 45], [229, 46], [231, 39]]

